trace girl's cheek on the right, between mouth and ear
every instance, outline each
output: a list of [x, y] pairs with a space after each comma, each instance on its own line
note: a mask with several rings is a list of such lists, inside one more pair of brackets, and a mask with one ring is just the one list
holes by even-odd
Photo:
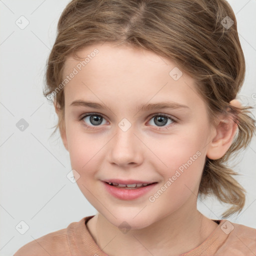
[[170, 196], [180, 199], [191, 193], [189, 189], [196, 191], [205, 161], [204, 137], [198, 127], [191, 126], [189, 132], [157, 138], [157, 143], [150, 145], [159, 158], [152, 157], [150, 164], [163, 177]]

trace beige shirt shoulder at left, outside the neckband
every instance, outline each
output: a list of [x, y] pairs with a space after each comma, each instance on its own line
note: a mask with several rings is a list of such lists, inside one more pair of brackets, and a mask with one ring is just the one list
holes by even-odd
[[36, 238], [19, 248], [13, 256], [64, 255], [69, 251], [66, 231], [67, 228], [63, 228]]

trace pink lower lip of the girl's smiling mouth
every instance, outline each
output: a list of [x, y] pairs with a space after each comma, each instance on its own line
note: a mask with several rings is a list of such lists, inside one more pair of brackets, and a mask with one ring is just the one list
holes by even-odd
[[135, 189], [129, 189], [129, 188], [119, 188], [112, 185], [109, 185], [108, 183], [102, 181], [106, 190], [113, 195], [116, 198], [122, 199], [122, 200], [132, 200], [136, 199], [147, 192], [149, 192], [157, 183], [153, 183], [147, 186], [142, 186]]

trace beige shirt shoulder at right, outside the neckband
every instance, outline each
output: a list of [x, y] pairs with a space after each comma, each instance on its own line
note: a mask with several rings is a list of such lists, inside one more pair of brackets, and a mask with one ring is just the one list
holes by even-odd
[[228, 236], [214, 255], [247, 256], [256, 253], [256, 228], [228, 220], [221, 222], [220, 228]]

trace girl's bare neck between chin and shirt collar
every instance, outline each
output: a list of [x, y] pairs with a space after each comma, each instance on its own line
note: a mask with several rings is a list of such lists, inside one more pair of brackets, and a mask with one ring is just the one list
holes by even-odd
[[200, 245], [217, 227], [217, 223], [203, 216], [196, 207], [181, 210], [126, 233], [100, 213], [87, 222], [87, 227], [97, 245], [111, 256], [156, 256], [166, 255], [166, 251], [169, 256], [176, 256]]

